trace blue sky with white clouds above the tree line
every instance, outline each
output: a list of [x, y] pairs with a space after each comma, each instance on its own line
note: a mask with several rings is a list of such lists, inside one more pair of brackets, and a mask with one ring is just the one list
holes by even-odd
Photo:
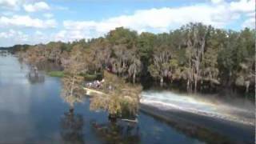
[[0, 0], [0, 46], [72, 42], [115, 27], [152, 32], [202, 22], [255, 28], [255, 0]]

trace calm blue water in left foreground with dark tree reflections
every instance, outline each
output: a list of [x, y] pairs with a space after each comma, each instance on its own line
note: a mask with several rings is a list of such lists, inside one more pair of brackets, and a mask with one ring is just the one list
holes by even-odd
[[90, 111], [86, 98], [70, 111], [60, 79], [31, 80], [29, 70], [0, 56], [0, 143], [206, 143], [142, 112], [137, 125], [113, 124], [105, 112]]

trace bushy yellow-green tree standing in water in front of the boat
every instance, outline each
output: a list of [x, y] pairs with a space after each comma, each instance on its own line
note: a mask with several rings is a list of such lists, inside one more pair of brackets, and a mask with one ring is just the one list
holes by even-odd
[[104, 80], [102, 92], [106, 95], [94, 96], [90, 102], [90, 109], [106, 110], [109, 114], [120, 117], [127, 112], [137, 114], [142, 87], [131, 85], [107, 71], [104, 72]]

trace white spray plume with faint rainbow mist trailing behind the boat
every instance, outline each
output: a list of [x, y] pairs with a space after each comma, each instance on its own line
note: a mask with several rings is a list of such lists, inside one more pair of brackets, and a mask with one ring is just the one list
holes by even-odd
[[254, 125], [254, 102], [246, 98], [217, 94], [179, 94], [168, 90], [143, 91], [141, 103], [161, 110], [183, 110], [213, 118]]

